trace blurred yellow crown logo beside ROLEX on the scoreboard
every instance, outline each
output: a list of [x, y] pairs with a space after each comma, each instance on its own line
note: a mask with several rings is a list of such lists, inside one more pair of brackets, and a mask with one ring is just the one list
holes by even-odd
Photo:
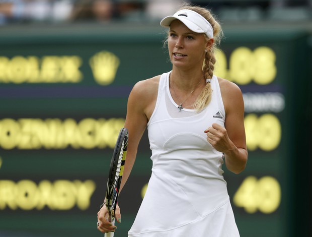
[[112, 52], [100, 51], [90, 58], [89, 64], [95, 81], [100, 85], [109, 85], [115, 80], [120, 60]]

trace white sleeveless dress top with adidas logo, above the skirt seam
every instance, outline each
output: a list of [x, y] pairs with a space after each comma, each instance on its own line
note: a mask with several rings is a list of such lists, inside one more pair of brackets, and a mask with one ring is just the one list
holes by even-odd
[[212, 99], [200, 112], [178, 109], [169, 90], [169, 73], [160, 78], [158, 98], [147, 124], [152, 174], [129, 233], [169, 231], [199, 220], [229, 201], [223, 154], [206, 140], [212, 123], [224, 127], [218, 79]]

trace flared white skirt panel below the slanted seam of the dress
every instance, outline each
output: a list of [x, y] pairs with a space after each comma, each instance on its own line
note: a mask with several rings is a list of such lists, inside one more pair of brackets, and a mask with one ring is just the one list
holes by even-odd
[[[183, 208], [183, 207], [181, 207]], [[152, 215], [152, 213], [150, 213]], [[148, 216], [146, 216], [148, 219]], [[175, 217], [172, 216], [174, 219]], [[239, 237], [233, 211], [228, 201], [215, 211], [176, 228], [164, 231], [151, 230], [140, 232], [138, 228], [132, 228], [128, 237]]]

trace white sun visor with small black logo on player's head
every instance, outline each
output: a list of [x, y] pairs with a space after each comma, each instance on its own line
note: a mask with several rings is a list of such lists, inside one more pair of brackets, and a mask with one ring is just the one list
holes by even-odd
[[181, 21], [187, 28], [196, 33], [205, 33], [209, 38], [213, 38], [213, 29], [210, 23], [200, 14], [183, 9], [176, 12], [173, 16], [165, 17], [161, 21], [161, 26], [170, 27], [174, 20]]

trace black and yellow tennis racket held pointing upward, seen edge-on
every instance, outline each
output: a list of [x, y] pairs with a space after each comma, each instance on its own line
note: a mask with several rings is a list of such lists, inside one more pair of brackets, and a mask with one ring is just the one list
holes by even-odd
[[[122, 128], [115, 145], [108, 174], [107, 188], [105, 194], [105, 205], [108, 210], [108, 221], [115, 223], [115, 210], [117, 206], [118, 193], [126, 160], [128, 146], [128, 130]], [[114, 232], [105, 233], [105, 237], [113, 237]]]

